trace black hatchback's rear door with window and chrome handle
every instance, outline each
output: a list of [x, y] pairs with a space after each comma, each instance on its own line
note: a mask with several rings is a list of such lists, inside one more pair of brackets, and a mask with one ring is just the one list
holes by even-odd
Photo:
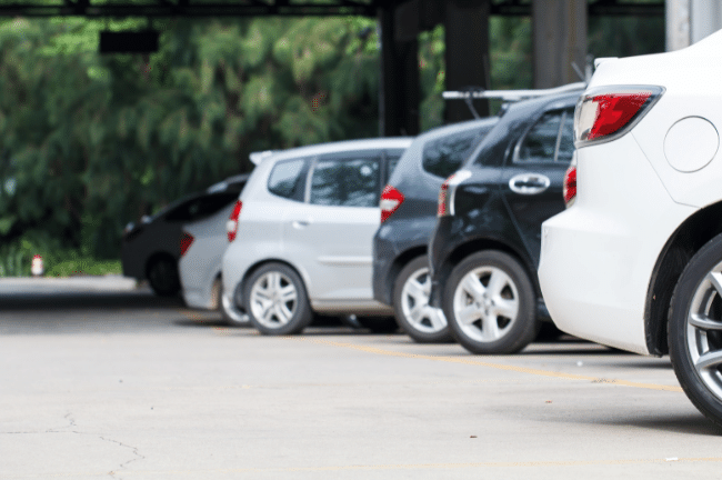
[[571, 162], [574, 108], [545, 111], [507, 159], [501, 191], [534, 264], [539, 264], [541, 224], [564, 210], [562, 184]]

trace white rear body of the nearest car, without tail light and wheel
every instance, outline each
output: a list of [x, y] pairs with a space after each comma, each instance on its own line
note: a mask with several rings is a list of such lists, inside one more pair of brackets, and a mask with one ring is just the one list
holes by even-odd
[[[575, 202], [542, 226], [539, 278], [561, 330], [650, 353], [644, 308], [658, 258], [684, 220], [721, 197], [713, 131], [722, 128], [720, 51], [722, 32], [676, 52], [600, 63], [590, 89], [640, 84], [665, 91], [630, 132], [578, 150]], [[670, 129], [688, 118], [713, 129], [689, 139], [673, 130], [665, 150]]]

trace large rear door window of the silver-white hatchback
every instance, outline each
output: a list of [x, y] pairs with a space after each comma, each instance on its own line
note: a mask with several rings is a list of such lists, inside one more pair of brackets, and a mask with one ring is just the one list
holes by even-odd
[[309, 201], [322, 206], [377, 207], [380, 157], [345, 154], [318, 159]]

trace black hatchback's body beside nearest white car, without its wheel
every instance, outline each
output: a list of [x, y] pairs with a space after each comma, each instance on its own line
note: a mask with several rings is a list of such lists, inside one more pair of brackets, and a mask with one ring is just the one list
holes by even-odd
[[[453, 192], [454, 214], [439, 218], [431, 236], [432, 306], [441, 307], [443, 286], [454, 266], [484, 249], [518, 258], [541, 299], [537, 278], [541, 223], [564, 209], [562, 183], [573, 151], [566, 140], [580, 93], [511, 106], [470, 156], [463, 169], [471, 176]], [[558, 129], [556, 144], [544, 143], [543, 133], [553, 129]], [[548, 182], [542, 192], [527, 192], [542, 180]]]

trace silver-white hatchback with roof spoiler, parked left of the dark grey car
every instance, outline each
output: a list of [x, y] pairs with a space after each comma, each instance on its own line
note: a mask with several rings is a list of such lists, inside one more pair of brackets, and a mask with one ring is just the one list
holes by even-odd
[[[357, 314], [395, 329], [373, 300], [371, 241], [379, 199], [411, 139], [370, 139], [282, 151], [263, 160], [228, 221], [223, 302], [267, 334], [298, 333], [313, 312]], [[377, 318], [364, 318], [363, 316]]]

